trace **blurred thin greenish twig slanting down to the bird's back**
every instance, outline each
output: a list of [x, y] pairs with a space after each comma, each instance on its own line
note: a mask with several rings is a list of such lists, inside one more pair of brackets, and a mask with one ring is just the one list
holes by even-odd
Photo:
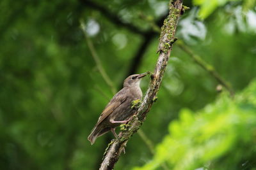
[[84, 32], [84, 37], [86, 39], [86, 43], [88, 44], [89, 50], [92, 53], [92, 57], [96, 63], [96, 66], [99, 69], [99, 72], [100, 72], [102, 78], [106, 81], [108, 86], [111, 88], [112, 93], [116, 94], [116, 88], [115, 88], [113, 82], [111, 81], [111, 79], [109, 78], [108, 74], [106, 73], [104, 67], [102, 66], [99, 56], [97, 55], [97, 52], [93, 46], [93, 43], [92, 43], [91, 39], [86, 34], [85, 27], [86, 26], [85, 26], [84, 22], [81, 21], [81, 29]]

